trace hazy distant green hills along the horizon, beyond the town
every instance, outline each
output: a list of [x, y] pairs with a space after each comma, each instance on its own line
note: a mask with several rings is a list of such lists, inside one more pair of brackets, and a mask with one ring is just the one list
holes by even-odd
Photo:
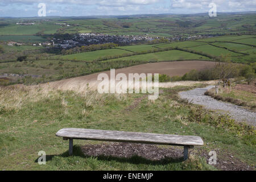
[[[110, 35], [187, 36], [200, 34], [230, 34], [255, 31], [255, 14], [219, 14], [209, 18], [207, 14], [184, 15], [137, 15], [130, 18], [23, 18], [1, 19], [0, 35], [77, 34], [96, 32]], [[17, 22], [35, 22], [22, 26]], [[67, 23], [60, 26], [55, 23]], [[130, 23], [124, 27], [123, 23]]]

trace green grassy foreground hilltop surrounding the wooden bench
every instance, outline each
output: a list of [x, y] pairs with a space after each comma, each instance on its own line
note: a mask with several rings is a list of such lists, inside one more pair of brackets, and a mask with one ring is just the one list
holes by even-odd
[[[5, 170], [213, 170], [206, 159], [193, 155], [187, 162], [163, 159], [157, 162], [139, 156], [115, 158], [111, 156], [84, 156], [80, 147], [101, 144], [75, 140], [75, 155], [67, 156], [68, 142], [55, 137], [64, 127], [138, 131], [146, 133], [200, 135], [208, 145], [196, 151], [208, 153], [214, 148], [246, 162], [255, 164], [255, 143], [246, 138], [250, 130], [219, 123], [220, 119], [199, 106], [177, 100], [176, 93], [192, 87], [177, 86], [163, 89], [155, 102], [146, 98], [132, 110], [127, 107], [142, 97], [141, 94], [100, 95], [42, 90], [40, 86], [0, 88], [0, 169]], [[7, 97], [8, 96], [8, 97]], [[193, 114], [193, 110], [201, 110]], [[192, 119], [195, 120], [192, 120]], [[225, 118], [225, 117], [223, 117]], [[232, 127], [231, 127], [232, 126]], [[233, 129], [237, 126], [238, 129]], [[239, 131], [237, 133], [237, 131]], [[253, 140], [252, 140], [253, 141]], [[179, 148], [179, 147], [177, 147]], [[46, 151], [47, 164], [39, 166], [39, 151]], [[219, 157], [219, 156], [218, 156]]]

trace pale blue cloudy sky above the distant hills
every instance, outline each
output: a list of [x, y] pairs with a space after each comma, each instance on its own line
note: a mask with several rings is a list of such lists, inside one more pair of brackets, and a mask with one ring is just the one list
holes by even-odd
[[39, 3], [46, 16], [208, 13], [210, 3], [217, 12], [256, 11], [256, 0], [0, 0], [0, 16], [38, 16]]

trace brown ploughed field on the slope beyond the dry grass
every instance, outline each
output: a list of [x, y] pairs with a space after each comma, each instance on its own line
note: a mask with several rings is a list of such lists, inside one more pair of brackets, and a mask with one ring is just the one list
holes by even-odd
[[[148, 63], [142, 65], [136, 65], [134, 67], [116, 69], [115, 75], [118, 73], [159, 73], [166, 74], [168, 76], [183, 76], [185, 73], [192, 69], [205, 69], [214, 67], [215, 63], [211, 61], [173, 61], [162, 63]], [[110, 71], [101, 72], [106, 73], [110, 77]], [[92, 75], [81, 76], [76, 78], [69, 78], [66, 80], [60, 80], [50, 82], [48, 84], [42, 84], [43, 87], [49, 87], [52, 89], [60, 90], [86, 90], [87, 84], [90, 88], [97, 88], [97, 77], [100, 73], [94, 73]]]

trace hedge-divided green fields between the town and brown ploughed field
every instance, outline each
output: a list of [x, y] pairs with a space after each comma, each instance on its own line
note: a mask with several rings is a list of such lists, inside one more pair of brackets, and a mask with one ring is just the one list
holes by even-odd
[[[229, 55], [230, 60], [234, 63], [255, 63], [256, 48], [231, 42], [232, 40], [238, 39], [251, 39], [250, 36], [225, 36], [216, 39], [225, 39], [229, 40], [229, 42], [213, 42], [212, 39], [200, 39], [197, 41], [164, 44], [121, 46], [115, 49], [75, 53], [71, 55], [33, 53], [37, 49], [43, 51], [43, 47], [7, 46], [6, 44], [2, 44], [5, 53], [1, 55], [0, 72], [38, 75], [38, 78], [19, 79], [20, 82], [31, 84], [33, 82], [45, 82], [88, 75], [110, 68], [123, 68], [158, 61], [216, 61], [214, 57], [218, 58], [221, 55]], [[177, 50], [179, 48], [180, 50]], [[28, 61], [17, 63], [15, 61], [15, 55], [20, 56], [28, 50], [31, 52], [28, 54]]]

